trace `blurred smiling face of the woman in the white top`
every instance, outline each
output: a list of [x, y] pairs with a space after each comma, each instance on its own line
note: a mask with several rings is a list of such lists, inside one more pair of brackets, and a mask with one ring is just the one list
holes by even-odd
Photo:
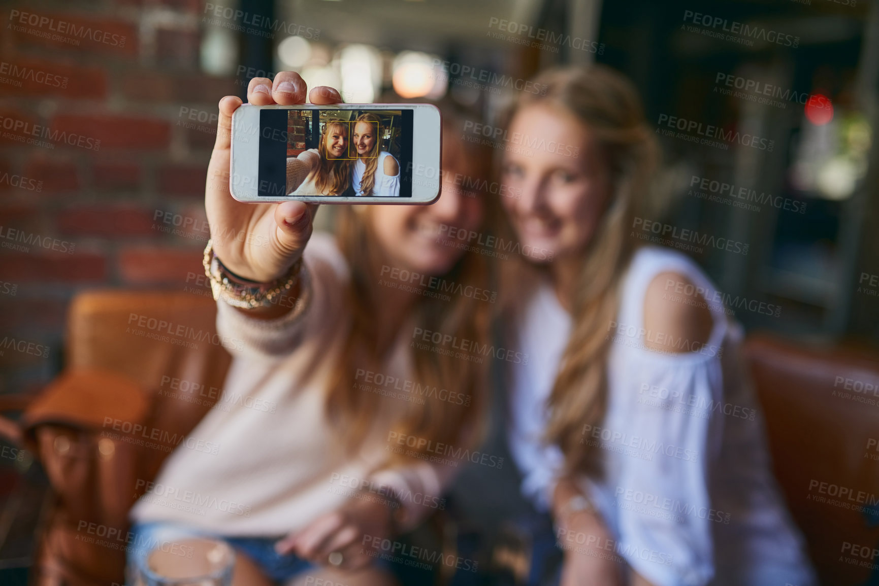
[[611, 192], [605, 157], [589, 129], [561, 107], [524, 106], [511, 120], [508, 135], [516, 133], [540, 138], [541, 144], [572, 147], [505, 151], [502, 181], [521, 198], [503, 198], [503, 203], [523, 250], [531, 246], [553, 253], [540, 258], [578, 256], [591, 241]]

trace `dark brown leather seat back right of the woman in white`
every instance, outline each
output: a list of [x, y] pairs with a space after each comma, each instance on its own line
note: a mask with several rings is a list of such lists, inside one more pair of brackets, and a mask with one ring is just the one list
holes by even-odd
[[745, 354], [775, 477], [821, 582], [877, 583], [879, 360], [766, 335], [751, 336]]

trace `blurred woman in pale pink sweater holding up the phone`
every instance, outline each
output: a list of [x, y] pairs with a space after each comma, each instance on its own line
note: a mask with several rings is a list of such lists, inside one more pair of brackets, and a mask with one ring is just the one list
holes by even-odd
[[[292, 72], [248, 88], [256, 105], [301, 104], [305, 95]], [[309, 98], [341, 102], [330, 88]], [[413, 332], [485, 341], [488, 321], [483, 300], [438, 299], [393, 275], [481, 284], [481, 259], [423, 230], [479, 229], [483, 203], [449, 184], [432, 206], [343, 206], [338, 237], [312, 235], [316, 206], [243, 204], [228, 180], [210, 180], [229, 173], [229, 122], [240, 105], [222, 98], [208, 168], [215, 267], [248, 291], [294, 285], [265, 307], [217, 301], [217, 329], [236, 341], [223, 395], [246, 399], [218, 404], [193, 430], [193, 443], [217, 445], [217, 454], [178, 449], [166, 460], [132, 511], [134, 541], [222, 537], [236, 548], [236, 586], [389, 584], [387, 568], [373, 563], [388, 549], [375, 544], [439, 508], [454, 467], [433, 463], [427, 450], [468, 447], [483, 402], [483, 366], [416, 352]], [[454, 135], [447, 141], [454, 146]], [[478, 157], [463, 146], [443, 156], [455, 172], [476, 173]], [[222, 236], [242, 230], [269, 245]], [[130, 553], [131, 566], [142, 567], [144, 555]]]

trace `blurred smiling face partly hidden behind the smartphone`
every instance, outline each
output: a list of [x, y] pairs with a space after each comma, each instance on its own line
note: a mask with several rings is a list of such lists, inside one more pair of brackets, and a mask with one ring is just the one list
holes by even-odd
[[[484, 177], [460, 137], [444, 133], [442, 194], [431, 206], [369, 206], [374, 234], [389, 261], [425, 275], [451, 270], [463, 251], [449, 234], [477, 231], [483, 223], [483, 196], [464, 192], [454, 177]], [[460, 173], [461, 175], [456, 175]]]

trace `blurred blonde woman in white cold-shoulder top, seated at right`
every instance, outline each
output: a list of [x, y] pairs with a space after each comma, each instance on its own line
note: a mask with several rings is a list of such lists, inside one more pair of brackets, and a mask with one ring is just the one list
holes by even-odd
[[[639, 247], [656, 155], [612, 69], [555, 69], [507, 117], [504, 198], [521, 250], [508, 441], [556, 523], [563, 586], [814, 584], [770, 473], [742, 329], [679, 252]], [[551, 538], [550, 538], [551, 539]]]

